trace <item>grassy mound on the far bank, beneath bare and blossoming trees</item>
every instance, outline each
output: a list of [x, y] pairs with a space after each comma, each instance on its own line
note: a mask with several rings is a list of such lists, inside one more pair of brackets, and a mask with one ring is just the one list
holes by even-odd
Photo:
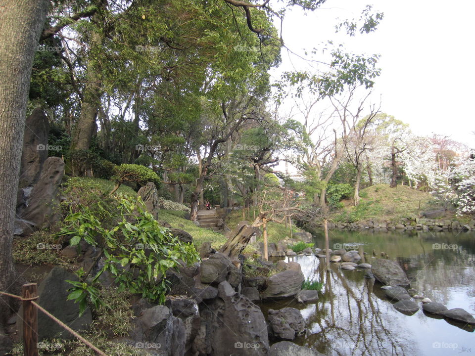
[[412, 189], [406, 185], [390, 188], [387, 184], [378, 184], [360, 192], [358, 207], [352, 200], [343, 201], [344, 208], [332, 213], [334, 221], [397, 221], [418, 216], [422, 211], [440, 209], [430, 193]]

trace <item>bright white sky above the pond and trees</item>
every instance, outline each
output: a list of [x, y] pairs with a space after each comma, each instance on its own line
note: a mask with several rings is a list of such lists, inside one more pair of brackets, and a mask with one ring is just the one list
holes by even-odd
[[[336, 18], [359, 18], [366, 4], [384, 12], [375, 33], [335, 34]], [[379, 53], [374, 101], [382, 95], [382, 112], [409, 123], [415, 134], [447, 134], [475, 147], [474, 15], [470, 0], [327, 0], [306, 16], [288, 12], [284, 41], [301, 55], [303, 48], [310, 51], [328, 40], [344, 42], [356, 53]], [[282, 71], [308, 69], [308, 62], [282, 54], [275, 78]]]

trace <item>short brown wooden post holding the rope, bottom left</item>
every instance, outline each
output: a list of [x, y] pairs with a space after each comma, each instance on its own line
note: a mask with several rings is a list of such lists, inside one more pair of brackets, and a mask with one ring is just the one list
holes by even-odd
[[[36, 283], [21, 286], [21, 297], [23, 299], [31, 299], [36, 296]], [[38, 356], [38, 310], [31, 303], [31, 300], [23, 301], [23, 355]]]

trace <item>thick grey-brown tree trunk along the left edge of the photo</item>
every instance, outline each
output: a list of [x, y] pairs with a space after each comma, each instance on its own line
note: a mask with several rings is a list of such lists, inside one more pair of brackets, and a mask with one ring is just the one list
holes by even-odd
[[11, 283], [16, 280], [12, 257], [16, 192], [31, 67], [47, 7], [47, 0], [2, 0], [0, 4], [1, 291], [12, 290]]

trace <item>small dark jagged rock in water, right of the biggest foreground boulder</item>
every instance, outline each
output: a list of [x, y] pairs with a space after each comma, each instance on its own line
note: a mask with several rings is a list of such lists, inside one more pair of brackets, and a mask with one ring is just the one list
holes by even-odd
[[295, 308], [269, 309], [269, 326], [274, 337], [293, 340], [305, 332], [305, 321], [300, 311]]

